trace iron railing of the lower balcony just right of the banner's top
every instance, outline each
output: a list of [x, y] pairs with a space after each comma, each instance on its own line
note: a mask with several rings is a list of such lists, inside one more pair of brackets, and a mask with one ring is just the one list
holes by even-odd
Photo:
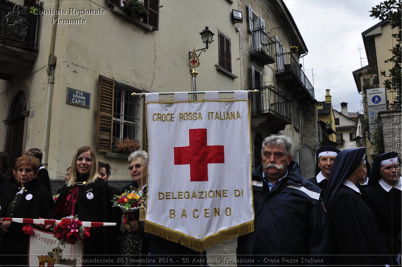
[[272, 113], [291, 123], [290, 101], [282, 93], [272, 86], [254, 86], [251, 90], [257, 89], [258, 94], [252, 94], [251, 113]]

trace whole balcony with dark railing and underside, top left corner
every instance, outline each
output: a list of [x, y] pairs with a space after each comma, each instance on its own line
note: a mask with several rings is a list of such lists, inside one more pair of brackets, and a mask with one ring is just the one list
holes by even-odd
[[[31, 9], [42, 7], [43, 2], [38, 2]], [[0, 0], [0, 57], [6, 66], [0, 70], [2, 79], [11, 80], [17, 72], [32, 67], [37, 58], [40, 15], [31, 9]]]

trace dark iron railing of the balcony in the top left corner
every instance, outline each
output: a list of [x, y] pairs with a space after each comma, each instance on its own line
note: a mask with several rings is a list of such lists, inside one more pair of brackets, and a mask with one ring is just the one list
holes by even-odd
[[0, 43], [36, 52], [40, 16], [30, 13], [27, 6], [18, 5], [17, 10], [14, 5], [8, 0], [0, 0]]

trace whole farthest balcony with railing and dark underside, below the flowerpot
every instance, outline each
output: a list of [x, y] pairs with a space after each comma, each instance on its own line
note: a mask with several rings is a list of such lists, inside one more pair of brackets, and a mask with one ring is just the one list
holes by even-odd
[[314, 100], [314, 87], [301, 70], [299, 61], [293, 53], [276, 53], [275, 58], [277, 81], [283, 82], [295, 97]]

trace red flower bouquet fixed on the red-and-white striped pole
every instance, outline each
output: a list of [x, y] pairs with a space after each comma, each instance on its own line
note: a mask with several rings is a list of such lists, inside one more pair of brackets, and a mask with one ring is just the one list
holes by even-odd
[[74, 245], [76, 242], [84, 241], [90, 237], [89, 227], [82, 226], [78, 216], [68, 216], [62, 218], [61, 222], [53, 230], [53, 236], [59, 240], [59, 244], [66, 247], [66, 244]]

